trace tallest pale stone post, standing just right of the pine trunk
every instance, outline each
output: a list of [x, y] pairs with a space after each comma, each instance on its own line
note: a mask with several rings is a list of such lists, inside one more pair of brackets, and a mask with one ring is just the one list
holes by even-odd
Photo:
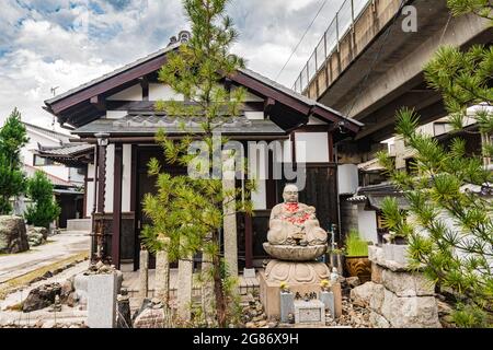
[[228, 265], [230, 276], [238, 276], [238, 240], [237, 240], [237, 215], [234, 201], [234, 156], [231, 150], [222, 152], [222, 190], [231, 192], [223, 200], [225, 214], [225, 260]]

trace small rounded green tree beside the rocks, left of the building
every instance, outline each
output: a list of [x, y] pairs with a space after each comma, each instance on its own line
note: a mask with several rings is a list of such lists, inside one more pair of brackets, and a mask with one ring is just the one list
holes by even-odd
[[48, 229], [49, 223], [57, 219], [61, 211], [53, 198], [53, 184], [45, 173], [37, 171], [27, 179], [26, 185], [26, 195], [34, 202], [24, 213], [26, 222]]

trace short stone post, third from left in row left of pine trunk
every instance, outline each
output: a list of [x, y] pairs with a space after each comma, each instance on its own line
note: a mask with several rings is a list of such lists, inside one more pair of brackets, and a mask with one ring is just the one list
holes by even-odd
[[182, 320], [192, 318], [192, 278], [194, 270], [193, 257], [190, 255], [185, 259], [179, 260], [177, 276], [177, 316]]

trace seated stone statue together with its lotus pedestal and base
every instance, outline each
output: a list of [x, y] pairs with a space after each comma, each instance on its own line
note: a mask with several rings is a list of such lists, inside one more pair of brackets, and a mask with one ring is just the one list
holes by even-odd
[[265, 313], [275, 318], [280, 316], [280, 283], [288, 283], [293, 293], [318, 293], [320, 281], [330, 276], [328, 266], [317, 261], [326, 252], [328, 234], [320, 228], [316, 209], [298, 202], [295, 185], [284, 188], [283, 198], [284, 203], [272, 209], [268, 242], [264, 243], [274, 259], [259, 273]]

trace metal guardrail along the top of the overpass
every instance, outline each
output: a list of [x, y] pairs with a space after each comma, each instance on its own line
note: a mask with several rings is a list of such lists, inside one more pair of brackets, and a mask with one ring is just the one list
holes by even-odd
[[353, 27], [354, 21], [374, 0], [345, 0], [326, 28], [316, 49], [298, 75], [293, 90], [302, 93], [324, 66], [325, 58], [339, 50], [341, 39]]

